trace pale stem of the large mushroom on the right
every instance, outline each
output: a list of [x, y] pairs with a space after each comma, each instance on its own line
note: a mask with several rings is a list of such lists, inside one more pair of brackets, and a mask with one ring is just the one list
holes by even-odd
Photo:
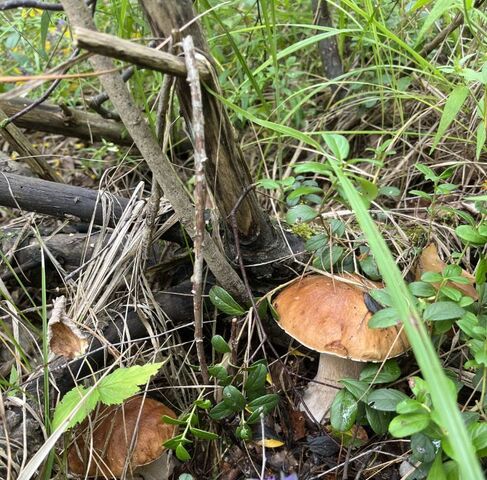
[[318, 364], [318, 373], [306, 387], [303, 404], [300, 410], [317, 421], [330, 415], [330, 407], [338, 391], [343, 387], [340, 380], [344, 378], [358, 379], [363, 368], [362, 362], [322, 353]]

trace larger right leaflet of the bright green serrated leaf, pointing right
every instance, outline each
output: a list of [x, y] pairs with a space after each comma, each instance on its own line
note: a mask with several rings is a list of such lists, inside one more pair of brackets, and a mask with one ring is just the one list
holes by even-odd
[[98, 384], [100, 401], [105, 405], [118, 405], [140, 391], [140, 385], [146, 384], [156, 374], [163, 363], [135, 365], [118, 368], [103, 378]]

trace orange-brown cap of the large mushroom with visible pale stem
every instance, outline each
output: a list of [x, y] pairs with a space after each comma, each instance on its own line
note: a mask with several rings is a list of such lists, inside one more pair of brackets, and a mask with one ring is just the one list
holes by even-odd
[[[349, 277], [354, 278], [357, 277]], [[401, 355], [409, 344], [404, 332], [397, 338], [400, 325], [368, 327], [372, 313], [365, 304], [366, 290], [365, 286], [344, 283], [339, 278], [302, 278], [274, 300], [278, 324], [288, 335], [317, 352], [358, 362], [380, 362]]]

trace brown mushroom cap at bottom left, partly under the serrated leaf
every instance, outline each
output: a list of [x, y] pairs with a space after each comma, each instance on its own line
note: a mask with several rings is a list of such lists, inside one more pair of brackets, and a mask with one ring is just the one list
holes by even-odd
[[174, 436], [176, 428], [164, 423], [163, 415], [176, 418], [170, 408], [142, 396], [132, 397], [122, 405], [99, 408], [96, 415], [76, 429], [68, 452], [70, 472], [113, 478], [123, 475], [126, 464], [130, 471], [153, 462], [161, 456], [163, 443]]

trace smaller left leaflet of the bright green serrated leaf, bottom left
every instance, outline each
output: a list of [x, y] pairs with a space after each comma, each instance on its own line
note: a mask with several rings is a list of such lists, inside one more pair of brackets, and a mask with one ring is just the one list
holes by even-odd
[[74, 415], [73, 419], [68, 423], [68, 428], [74, 427], [76, 424], [81, 423], [92, 412], [100, 397], [98, 390], [92, 389], [91, 391], [83, 386], [78, 386], [70, 390], [63, 399], [56, 405], [54, 410], [54, 416], [52, 419], [52, 429], [56, 430], [66, 418], [69, 417], [71, 412], [83, 401], [83, 405], [78, 412]]

